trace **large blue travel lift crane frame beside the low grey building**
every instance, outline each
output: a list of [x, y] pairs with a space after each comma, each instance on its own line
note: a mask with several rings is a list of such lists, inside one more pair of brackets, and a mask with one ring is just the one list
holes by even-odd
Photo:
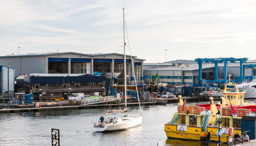
[[[198, 74], [199, 74], [199, 82], [202, 82], [202, 63], [214, 63], [215, 64], [215, 80], [208, 80], [208, 82], [227, 82], [227, 62], [235, 62], [240, 61], [240, 79], [234, 80], [235, 82], [244, 81], [244, 65], [243, 62], [246, 62], [248, 58], [197, 58], [195, 61], [198, 62]], [[218, 63], [224, 62], [224, 80], [218, 79]], [[249, 66], [248, 66], [249, 67]], [[253, 69], [252, 69], [253, 70]], [[252, 75], [253, 76], [253, 75]]]

